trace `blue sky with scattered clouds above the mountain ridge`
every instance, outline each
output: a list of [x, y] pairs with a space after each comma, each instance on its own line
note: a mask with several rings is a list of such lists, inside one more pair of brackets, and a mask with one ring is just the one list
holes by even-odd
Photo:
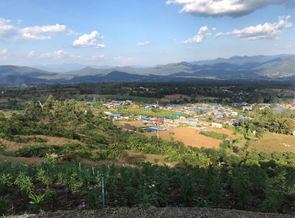
[[290, 0], [0, 4], [1, 65], [151, 66], [294, 53], [294, 1]]

